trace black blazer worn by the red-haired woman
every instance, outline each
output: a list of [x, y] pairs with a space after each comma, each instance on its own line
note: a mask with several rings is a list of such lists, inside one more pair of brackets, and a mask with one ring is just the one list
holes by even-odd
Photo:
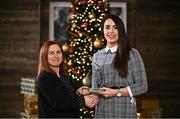
[[67, 76], [61, 75], [59, 78], [47, 71], [41, 72], [37, 93], [38, 117], [79, 118], [79, 102]]

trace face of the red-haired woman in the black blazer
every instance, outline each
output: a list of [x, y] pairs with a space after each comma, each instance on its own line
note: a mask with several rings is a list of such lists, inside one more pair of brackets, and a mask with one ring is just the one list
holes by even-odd
[[48, 63], [51, 67], [59, 67], [63, 61], [63, 54], [61, 48], [57, 44], [49, 46], [48, 49]]

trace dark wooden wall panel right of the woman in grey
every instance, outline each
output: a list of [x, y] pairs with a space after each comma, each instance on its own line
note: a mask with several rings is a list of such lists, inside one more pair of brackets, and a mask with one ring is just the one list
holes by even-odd
[[137, 8], [135, 42], [146, 65], [147, 95], [160, 100], [162, 117], [179, 117], [180, 2], [138, 0]]

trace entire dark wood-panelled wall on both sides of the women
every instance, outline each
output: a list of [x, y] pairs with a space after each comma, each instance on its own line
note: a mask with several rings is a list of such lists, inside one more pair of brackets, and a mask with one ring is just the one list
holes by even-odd
[[[50, 0], [71, 2], [70, 0]], [[0, 1], [0, 117], [23, 111], [21, 77], [35, 77], [39, 48], [49, 38], [49, 0]], [[179, 0], [127, 2], [127, 33], [146, 66], [149, 90], [162, 117], [178, 117], [180, 103]]]

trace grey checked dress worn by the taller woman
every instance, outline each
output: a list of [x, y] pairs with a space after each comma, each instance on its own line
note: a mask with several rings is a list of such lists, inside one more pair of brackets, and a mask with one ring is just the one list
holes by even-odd
[[[134, 48], [130, 50], [128, 62], [128, 76], [122, 78], [112, 66], [115, 53], [105, 51], [105, 48], [96, 52], [92, 62], [92, 88], [100, 87], [127, 87], [129, 86], [135, 100], [136, 95], [147, 91], [147, 77], [142, 58]], [[99, 97], [95, 118], [136, 118], [137, 107], [131, 102], [131, 97]]]

